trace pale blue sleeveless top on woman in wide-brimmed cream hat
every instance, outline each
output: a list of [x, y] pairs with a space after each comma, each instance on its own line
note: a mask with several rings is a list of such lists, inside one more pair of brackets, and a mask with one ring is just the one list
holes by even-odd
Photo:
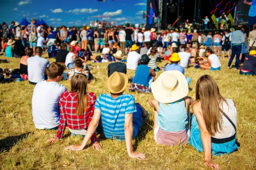
[[188, 124], [188, 112], [185, 100], [163, 104], [159, 103], [159, 112], [156, 118], [158, 126], [165, 132], [180, 132]]

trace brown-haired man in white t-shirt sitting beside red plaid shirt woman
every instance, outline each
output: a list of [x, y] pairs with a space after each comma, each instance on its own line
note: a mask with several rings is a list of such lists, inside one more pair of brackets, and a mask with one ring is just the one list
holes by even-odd
[[37, 129], [58, 129], [60, 124], [59, 99], [67, 90], [58, 84], [63, 78], [66, 66], [62, 63], [52, 63], [46, 73], [48, 79], [36, 84], [32, 96], [32, 116]]

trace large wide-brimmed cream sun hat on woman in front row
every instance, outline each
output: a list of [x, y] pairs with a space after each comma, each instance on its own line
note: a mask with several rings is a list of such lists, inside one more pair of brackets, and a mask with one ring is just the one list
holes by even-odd
[[188, 94], [188, 83], [180, 71], [165, 71], [151, 83], [151, 90], [160, 103], [172, 103]]

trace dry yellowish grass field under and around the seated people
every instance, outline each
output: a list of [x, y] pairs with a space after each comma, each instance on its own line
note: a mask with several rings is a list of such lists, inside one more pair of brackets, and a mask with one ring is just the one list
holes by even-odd
[[[45, 57], [45, 55], [43, 56]], [[0, 56], [6, 59], [5, 56]], [[49, 59], [49, 58], [48, 58]], [[9, 63], [1, 63], [0, 68], [18, 68], [19, 59], [8, 58]], [[50, 62], [55, 59], [49, 59]], [[221, 71], [205, 71], [190, 67], [185, 76], [191, 77], [188, 96], [195, 99], [195, 85], [203, 74], [211, 75], [218, 83], [220, 93], [236, 102], [237, 138], [241, 143], [238, 151], [212, 159], [221, 169], [256, 169], [256, 78], [240, 76], [234, 69], [227, 70], [228, 59], [221, 59]], [[88, 85], [96, 96], [108, 93], [105, 87], [108, 78], [106, 63], [93, 64], [100, 69], [92, 70], [98, 81]], [[164, 66], [165, 62], [158, 63]], [[159, 76], [161, 72], [158, 72]], [[134, 72], [128, 71], [128, 76]], [[61, 84], [70, 89], [69, 81]], [[129, 84], [130, 85], [130, 84]], [[136, 102], [144, 106], [150, 114], [149, 120], [141, 128], [140, 135], [133, 140], [134, 150], [146, 155], [145, 161], [129, 158], [125, 142], [99, 137], [103, 144], [101, 151], [94, 151], [90, 143], [83, 151], [64, 151], [71, 144], [79, 144], [81, 136], [70, 135], [68, 128], [61, 141], [48, 144], [57, 130], [38, 130], [32, 121], [31, 98], [34, 86], [28, 81], [0, 84], [0, 167], [1, 169], [205, 169], [204, 154], [190, 145], [168, 147], [156, 144], [153, 133], [153, 108], [148, 105], [151, 94], [132, 94]]]

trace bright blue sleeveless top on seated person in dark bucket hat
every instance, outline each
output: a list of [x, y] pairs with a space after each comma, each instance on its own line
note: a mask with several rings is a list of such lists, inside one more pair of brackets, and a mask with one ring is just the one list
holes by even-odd
[[151, 76], [149, 74], [150, 67], [142, 64], [137, 67], [137, 70], [135, 72], [135, 76], [132, 80], [133, 83], [149, 86], [148, 82], [151, 79]]

